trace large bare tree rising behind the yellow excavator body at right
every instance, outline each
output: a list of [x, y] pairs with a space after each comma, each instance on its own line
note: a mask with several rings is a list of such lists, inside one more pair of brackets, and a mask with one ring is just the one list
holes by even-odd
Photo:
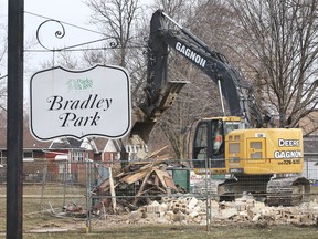
[[280, 127], [298, 126], [318, 104], [318, 2], [237, 0], [230, 4], [240, 20], [244, 52], [256, 60], [250, 66], [264, 111], [278, 115]]

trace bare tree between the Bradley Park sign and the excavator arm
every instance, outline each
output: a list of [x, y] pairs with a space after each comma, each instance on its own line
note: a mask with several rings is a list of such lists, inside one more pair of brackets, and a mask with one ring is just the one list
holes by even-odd
[[139, 0], [87, 0], [92, 9], [91, 23], [98, 27], [107, 43], [100, 51], [87, 51], [88, 64], [117, 64], [126, 67], [131, 79], [131, 95], [138, 102], [146, 79], [146, 23]]

